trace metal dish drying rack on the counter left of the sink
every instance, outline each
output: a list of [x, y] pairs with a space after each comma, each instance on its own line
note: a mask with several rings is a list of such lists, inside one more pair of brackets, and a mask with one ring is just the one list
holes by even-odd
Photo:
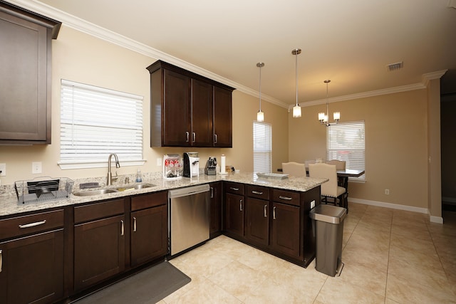
[[37, 177], [28, 181], [14, 182], [19, 203], [36, 203], [66, 199], [71, 194], [74, 182], [68, 177]]

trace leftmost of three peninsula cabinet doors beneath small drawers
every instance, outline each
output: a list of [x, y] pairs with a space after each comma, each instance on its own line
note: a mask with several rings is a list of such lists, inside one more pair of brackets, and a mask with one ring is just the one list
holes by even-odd
[[227, 193], [226, 196], [227, 231], [244, 237], [244, 196]]

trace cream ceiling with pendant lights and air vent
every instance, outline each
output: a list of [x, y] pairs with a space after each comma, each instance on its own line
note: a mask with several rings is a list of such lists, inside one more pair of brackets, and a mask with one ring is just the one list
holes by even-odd
[[264, 62], [261, 97], [285, 107], [296, 103], [294, 48], [302, 49], [301, 105], [325, 100], [326, 79], [334, 101], [417, 88], [423, 74], [456, 70], [455, 0], [9, 1], [67, 26], [93, 23], [252, 95]]

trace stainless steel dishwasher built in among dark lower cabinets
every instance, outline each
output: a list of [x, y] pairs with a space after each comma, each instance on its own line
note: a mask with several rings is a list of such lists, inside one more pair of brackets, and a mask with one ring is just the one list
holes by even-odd
[[174, 256], [209, 239], [209, 184], [168, 192], [170, 253]]

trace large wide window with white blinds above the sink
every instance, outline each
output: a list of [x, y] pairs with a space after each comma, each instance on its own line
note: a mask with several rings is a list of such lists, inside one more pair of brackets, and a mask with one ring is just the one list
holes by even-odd
[[144, 164], [142, 96], [61, 80], [60, 132], [62, 169]]

